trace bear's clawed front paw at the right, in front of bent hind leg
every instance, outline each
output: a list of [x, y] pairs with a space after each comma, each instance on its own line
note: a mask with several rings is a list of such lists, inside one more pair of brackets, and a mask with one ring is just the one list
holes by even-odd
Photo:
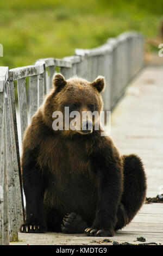
[[85, 234], [87, 236], [114, 236], [114, 230], [86, 228]]

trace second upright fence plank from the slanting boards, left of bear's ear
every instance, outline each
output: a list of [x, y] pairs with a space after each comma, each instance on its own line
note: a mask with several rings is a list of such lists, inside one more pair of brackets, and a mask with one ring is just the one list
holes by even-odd
[[30, 119], [33, 117], [35, 112], [37, 111], [38, 102], [38, 76], [30, 76], [30, 87], [29, 87], [29, 100], [30, 100]]

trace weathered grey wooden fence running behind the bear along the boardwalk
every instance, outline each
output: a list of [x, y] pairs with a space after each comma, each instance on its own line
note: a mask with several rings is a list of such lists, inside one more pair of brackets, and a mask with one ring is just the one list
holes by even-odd
[[[89, 81], [98, 75], [105, 76], [106, 89], [102, 96], [106, 111], [114, 108], [129, 81], [142, 67], [143, 37], [134, 32], [111, 38], [91, 50], [76, 49], [74, 56], [63, 59], [40, 59], [34, 65], [10, 70], [0, 67], [0, 245], [18, 241], [18, 229], [24, 219], [21, 139], [30, 118], [52, 86], [54, 72], [61, 72], [65, 78], [77, 75]], [[17, 113], [14, 81], [17, 82]]]

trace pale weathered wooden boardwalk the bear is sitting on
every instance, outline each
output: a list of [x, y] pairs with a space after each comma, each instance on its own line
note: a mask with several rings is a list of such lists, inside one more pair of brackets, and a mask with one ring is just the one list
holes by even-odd
[[[111, 114], [111, 137], [121, 154], [139, 155], [147, 174], [147, 197], [163, 190], [163, 68], [145, 68]], [[134, 220], [114, 237], [86, 237], [60, 233], [23, 234], [11, 245], [97, 245], [110, 239], [118, 242], [146, 242], [163, 245], [163, 203], [144, 204]], [[97, 242], [95, 242], [97, 241]], [[101, 245], [112, 243], [101, 243]]]

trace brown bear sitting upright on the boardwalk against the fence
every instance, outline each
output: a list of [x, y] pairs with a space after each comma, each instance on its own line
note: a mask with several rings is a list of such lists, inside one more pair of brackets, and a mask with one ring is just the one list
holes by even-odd
[[[88, 82], [61, 74], [34, 114], [23, 138], [21, 159], [26, 221], [20, 231], [113, 236], [128, 224], [146, 196], [146, 175], [136, 155], [120, 156], [95, 119], [81, 129], [53, 129], [53, 113], [102, 111], [103, 77]], [[72, 118], [70, 118], [70, 121]], [[91, 128], [89, 124], [91, 123]], [[84, 128], [83, 128], [84, 126]]]

